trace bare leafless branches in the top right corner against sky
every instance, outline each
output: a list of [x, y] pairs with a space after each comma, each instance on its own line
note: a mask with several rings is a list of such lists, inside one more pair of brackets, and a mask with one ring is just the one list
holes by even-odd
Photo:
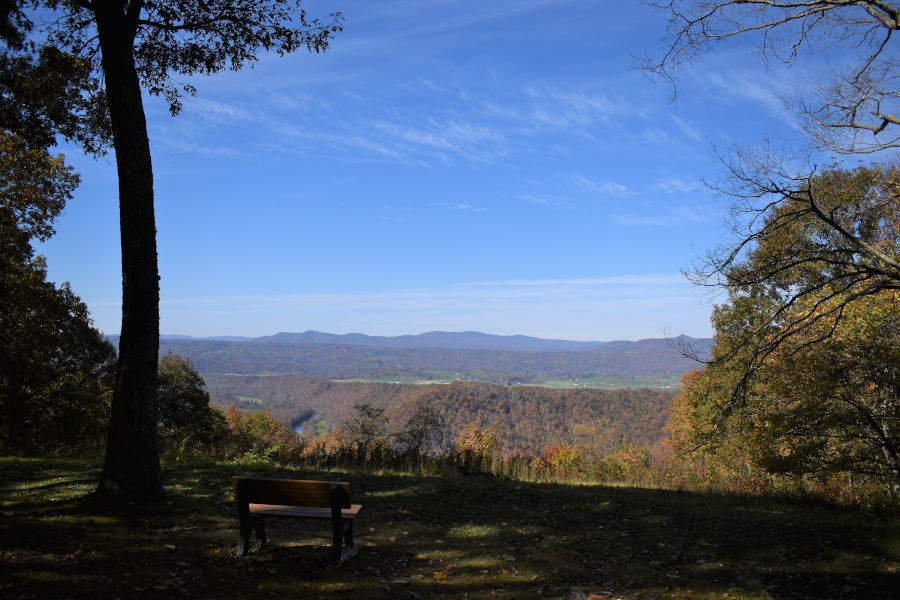
[[[841, 46], [855, 62], [834, 81], [799, 94], [795, 110], [813, 141], [841, 154], [900, 146], [900, 100], [895, 82], [894, 32], [900, 11], [886, 0], [668, 0], [648, 2], [668, 13], [667, 47], [640, 64], [673, 85], [674, 71], [712, 46], [735, 38], [757, 39], [765, 58], [794, 65], [822, 44]], [[865, 134], [865, 136], [863, 135]]]

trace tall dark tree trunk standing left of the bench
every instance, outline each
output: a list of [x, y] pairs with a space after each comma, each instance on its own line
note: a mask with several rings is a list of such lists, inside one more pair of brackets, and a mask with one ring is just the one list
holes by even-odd
[[156, 408], [159, 268], [150, 141], [134, 62], [136, 25], [125, 3], [93, 5], [113, 127], [122, 236], [122, 331], [98, 491], [157, 497], [163, 494]]

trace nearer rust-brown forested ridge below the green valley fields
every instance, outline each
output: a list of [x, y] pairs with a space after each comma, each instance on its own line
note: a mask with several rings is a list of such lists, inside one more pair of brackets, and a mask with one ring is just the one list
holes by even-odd
[[505, 452], [540, 453], [552, 444], [589, 444], [600, 453], [622, 446], [650, 447], [665, 437], [671, 392], [648, 389], [553, 390], [457, 382], [395, 385], [330, 381], [295, 375], [206, 375], [213, 404], [268, 409], [300, 426], [305, 435], [340, 428], [354, 406], [384, 409], [389, 428], [400, 430], [418, 406], [433, 407], [442, 426], [437, 449], [451, 448], [471, 424], [498, 434]]

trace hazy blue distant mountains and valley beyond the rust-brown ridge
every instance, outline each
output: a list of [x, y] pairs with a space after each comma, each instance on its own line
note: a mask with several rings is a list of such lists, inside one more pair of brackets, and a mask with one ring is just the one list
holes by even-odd
[[677, 385], [696, 361], [677, 346], [688, 343], [704, 358], [712, 340], [677, 338], [578, 342], [479, 332], [429, 332], [397, 337], [336, 335], [318, 331], [259, 338], [164, 336], [162, 352], [190, 358], [203, 374], [293, 374], [377, 381], [488, 381], [625, 387]]

